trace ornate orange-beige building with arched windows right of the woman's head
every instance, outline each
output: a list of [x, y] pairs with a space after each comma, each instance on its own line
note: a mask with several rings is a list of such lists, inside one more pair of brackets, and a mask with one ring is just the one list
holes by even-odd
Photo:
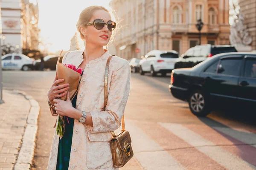
[[198, 19], [204, 23], [201, 44], [229, 44], [228, 0], [112, 0], [121, 28], [116, 55], [140, 58], [148, 51], [183, 54], [198, 44]]

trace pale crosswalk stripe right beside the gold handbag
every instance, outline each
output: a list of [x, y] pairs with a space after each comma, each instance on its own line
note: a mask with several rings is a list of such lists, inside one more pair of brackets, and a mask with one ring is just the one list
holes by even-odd
[[134, 156], [145, 170], [185, 170], [177, 160], [133, 122], [125, 120], [125, 125], [132, 137]]

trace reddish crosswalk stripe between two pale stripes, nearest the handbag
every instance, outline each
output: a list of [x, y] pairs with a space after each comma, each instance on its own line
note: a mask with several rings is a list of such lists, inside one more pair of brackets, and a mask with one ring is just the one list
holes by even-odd
[[135, 124], [188, 170], [225, 169], [221, 164], [201, 153], [161, 125], [145, 122], [136, 122]]

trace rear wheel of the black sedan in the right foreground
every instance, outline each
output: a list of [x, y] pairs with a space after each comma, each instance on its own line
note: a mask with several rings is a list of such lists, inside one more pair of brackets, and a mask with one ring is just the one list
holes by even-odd
[[204, 117], [211, 112], [208, 96], [203, 91], [193, 91], [188, 100], [190, 111], [195, 116]]

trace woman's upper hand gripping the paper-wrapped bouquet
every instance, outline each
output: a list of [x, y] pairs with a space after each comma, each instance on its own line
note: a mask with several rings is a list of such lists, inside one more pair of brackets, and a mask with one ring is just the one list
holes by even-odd
[[47, 93], [49, 101], [53, 104], [54, 104], [54, 102], [52, 102], [53, 99], [57, 99], [58, 97], [61, 98], [62, 96], [66, 96], [67, 92], [65, 92], [65, 93], [62, 93], [62, 92], [69, 90], [69, 84], [66, 83], [64, 85], [58, 85], [61, 82], [64, 82], [64, 79], [58, 79], [57, 74], [56, 74], [53, 84]]

